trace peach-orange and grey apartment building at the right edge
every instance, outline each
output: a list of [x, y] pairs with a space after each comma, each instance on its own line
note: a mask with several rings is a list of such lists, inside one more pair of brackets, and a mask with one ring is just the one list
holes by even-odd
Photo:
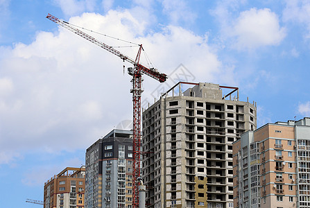
[[234, 207], [310, 207], [310, 118], [246, 132], [233, 157]]

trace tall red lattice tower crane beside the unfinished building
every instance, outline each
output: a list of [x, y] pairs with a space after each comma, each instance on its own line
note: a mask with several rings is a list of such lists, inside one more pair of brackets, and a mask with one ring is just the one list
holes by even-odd
[[123, 61], [130, 62], [133, 65], [132, 67], [128, 68], [128, 73], [132, 76], [132, 89], [130, 92], [132, 93], [132, 103], [133, 103], [133, 116], [132, 116], [132, 207], [138, 208], [139, 207], [139, 182], [137, 180], [140, 177], [140, 159], [141, 159], [141, 93], [143, 90], [141, 89], [141, 82], [142, 82], [142, 74], [146, 74], [155, 80], [160, 81], [160, 83], [164, 83], [167, 79], [166, 74], [160, 73], [157, 69], [144, 67], [142, 64], [139, 64], [141, 51], [143, 50], [142, 44], [139, 45], [139, 51], [137, 53], [137, 57], [135, 60], [129, 58], [126, 55], [123, 55], [121, 52], [113, 49], [111, 46], [96, 40], [96, 38], [84, 33], [83, 31], [78, 30], [74, 26], [71, 26], [69, 22], [63, 21], [54, 17], [53, 15], [49, 14], [46, 16], [47, 19], [54, 21], [56, 24], [66, 28], [67, 30], [71, 31], [72, 33], [76, 33], [80, 37], [85, 38], [89, 42], [100, 46], [102, 49], [117, 55]]

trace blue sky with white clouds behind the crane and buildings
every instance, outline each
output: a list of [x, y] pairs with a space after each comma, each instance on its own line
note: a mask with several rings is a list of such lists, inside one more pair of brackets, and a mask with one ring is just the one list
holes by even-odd
[[[39, 207], [26, 198], [43, 200], [49, 177], [84, 164], [88, 146], [132, 117], [123, 74], [130, 64], [59, 28], [48, 13], [143, 44], [172, 77], [185, 70], [191, 76], [181, 80], [239, 87], [241, 101], [257, 102], [259, 127], [310, 116], [309, 10], [308, 1], [289, 0], [0, 0], [1, 205]], [[146, 77], [144, 105], [173, 82]]]

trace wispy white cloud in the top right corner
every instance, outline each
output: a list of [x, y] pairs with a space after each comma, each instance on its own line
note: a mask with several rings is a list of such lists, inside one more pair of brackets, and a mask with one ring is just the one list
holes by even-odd
[[286, 1], [286, 8], [283, 10], [283, 20], [292, 21], [305, 26], [307, 31], [305, 38], [310, 38], [310, 2], [309, 1]]

